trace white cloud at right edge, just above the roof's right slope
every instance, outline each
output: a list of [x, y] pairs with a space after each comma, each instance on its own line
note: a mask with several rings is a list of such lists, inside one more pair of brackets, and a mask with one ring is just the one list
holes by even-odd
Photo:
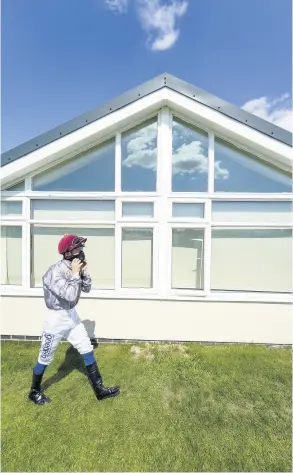
[[289, 94], [283, 94], [274, 100], [268, 97], [249, 100], [242, 108], [281, 128], [293, 131], [292, 99]]

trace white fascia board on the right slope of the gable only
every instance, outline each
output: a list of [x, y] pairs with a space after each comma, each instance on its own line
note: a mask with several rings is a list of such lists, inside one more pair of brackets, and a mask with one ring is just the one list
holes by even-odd
[[247, 148], [255, 155], [265, 156], [269, 162], [280, 163], [288, 170], [292, 168], [292, 148], [284, 143], [173, 90], [167, 90], [166, 98], [167, 105], [175, 115], [177, 112], [191, 122], [200, 122], [202, 127], [227, 136], [227, 139], [239, 143], [243, 149]]

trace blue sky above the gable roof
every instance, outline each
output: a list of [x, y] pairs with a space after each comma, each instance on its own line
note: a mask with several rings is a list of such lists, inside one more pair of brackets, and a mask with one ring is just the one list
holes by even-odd
[[288, 125], [291, 18], [291, 0], [2, 0], [2, 151], [162, 72]]

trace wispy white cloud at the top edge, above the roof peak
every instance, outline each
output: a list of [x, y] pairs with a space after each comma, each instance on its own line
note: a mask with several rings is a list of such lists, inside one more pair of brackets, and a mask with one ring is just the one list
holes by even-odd
[[[105, 0], [115, 13], [126, 13], [128, 0]], [[139, 21], [147, 33], [147, 45], [152, 51], [172, 48], [179, 38], [177, 19], [187, 12], [188, 0], [134, 0]]]

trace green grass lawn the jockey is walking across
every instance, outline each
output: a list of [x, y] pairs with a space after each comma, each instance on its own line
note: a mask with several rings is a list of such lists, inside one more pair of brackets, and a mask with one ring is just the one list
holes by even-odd
[[27, 400], [39, 344], [2, 343], [2, 468], [13, 472], [292, 471], [290, 349], [102, 344], [99, 402], [83, 362], [59, 346], [52, 403]]

